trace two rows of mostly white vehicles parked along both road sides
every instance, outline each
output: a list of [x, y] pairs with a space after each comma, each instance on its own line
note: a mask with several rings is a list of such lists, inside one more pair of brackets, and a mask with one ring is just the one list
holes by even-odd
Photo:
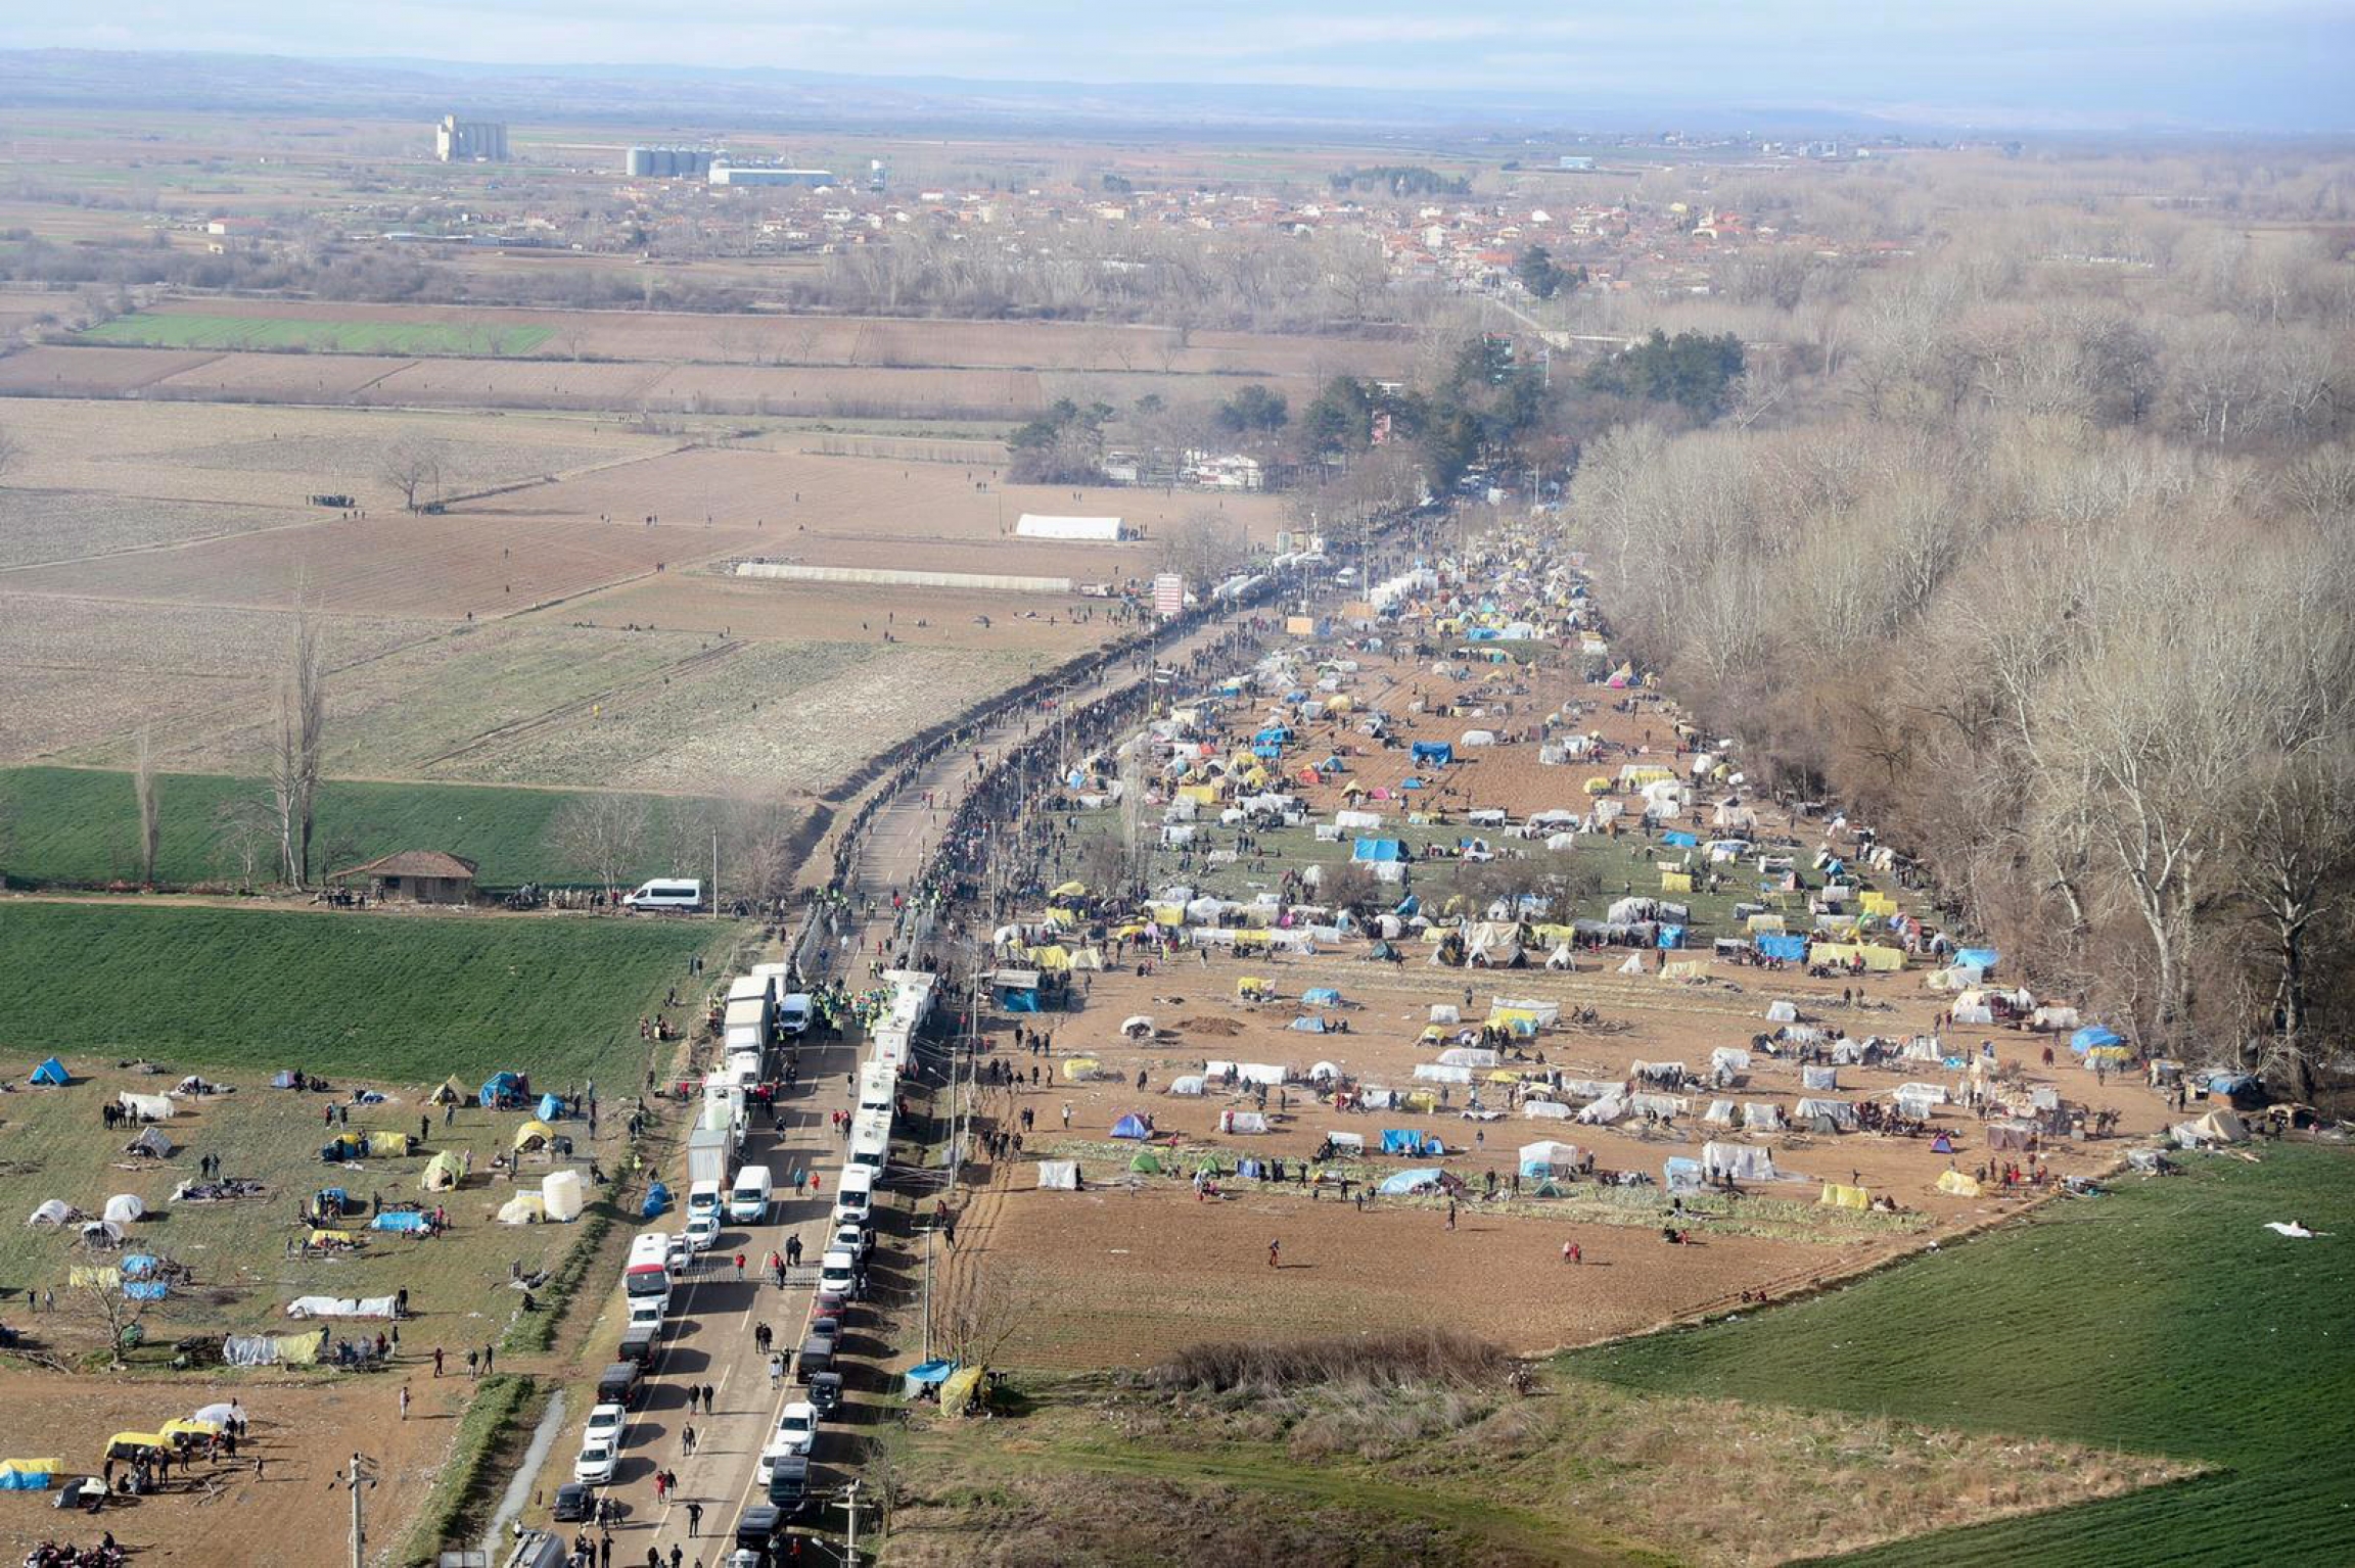
[[[751, 1116], [772, 1104], [780, 1088], [798, 1081], [798, 1041], [812, 1019], [810, 996], [791, 991], [789, 968], [756, 965], [735, 979], [721, 1015], [721, 1067], [702, 1081], [697, 1121], [688, 1135], [688, 1203], [681, 1231], [643, 1231], [631, 1241], [622, 1269], [626, 1318], [615, 1361], [596, 1384], [572, 1483], [558, 1488], [556, 1521], [579, 1521], [596, 1511], [596, 1488], [612, 1483], [629, 1420], [645, 1398], [645, 1380], [662, 1354], [676, 1304], [676, 1285], [692, 1262], [714, 1248], [728, 1227], [765, 1224], [777, 1203], [775, 1172], [765, 1158], [747, 1158]], [[820, 1453], [824, 1422], [841, 1410], [843, 1375], [836, 1349], [850, 1304], [864, 1293], [874, 1253], [874, 1194], [890, 1158], [900, 1074], [914, 1052], [914, 1036], [933, 1010], [935, 977], [921, 970], [888, 970], [890, 998], [869, 1022], [867, 1057], [855, 1074], [857, 1102], [850, 1144], [834, 1187], [827, 1241], [820, 1248], [810, 1316], [791, 1351], [772, 1354], [772, 1375], [791, 1361], [794, 1391], [761, 1446], [754, 1481], [763, 1502], [744, 1509], [735, 1533], [730, 1568], [761, 1568], [784, 1537], [784, 1526], [810, 1504], [810, 1464]]]

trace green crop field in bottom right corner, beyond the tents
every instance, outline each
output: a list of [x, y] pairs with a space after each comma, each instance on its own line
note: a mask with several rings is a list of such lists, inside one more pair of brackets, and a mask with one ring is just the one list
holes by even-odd
[[[1915, 1540], [1886, 1563], [2343, 1563], [2355, 1537], [2355, 1161], [2263, 1147], [1578, 1377], [2164, 1453], [2211, 1474]], [[2322, 1241], [2289, 1241], [2301, 1220]]]

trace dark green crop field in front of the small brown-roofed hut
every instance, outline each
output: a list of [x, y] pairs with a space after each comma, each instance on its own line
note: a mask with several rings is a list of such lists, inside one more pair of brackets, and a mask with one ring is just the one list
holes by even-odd
[[7, 1076], [40, 1057], [301, 1067], [379, 1083], [636, 1083], [638, 1017], [735, 923], [14, 902], [0, 909]]

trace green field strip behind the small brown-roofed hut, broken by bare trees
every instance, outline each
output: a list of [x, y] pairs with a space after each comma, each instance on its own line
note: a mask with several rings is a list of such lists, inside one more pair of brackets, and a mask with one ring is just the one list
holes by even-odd
[[[238, 862], [226, 852], [219, 812], [233, 800], [259, 800], [261, 779], [172, 772], [158, 782], [162, 845], [155, 878], [165, 888], [233, 885]], [[480, 784], [365, 784], [330, 779], [320, 789], [318, 838], [332, 866], [358, 864], [393, 850], [447, 850], [476, 862], [485, 888], [516, 883], [596, 883], [591, 866], [551, 845], [551, 822], [586, 791], [497, 789]], [[631, 881], [662, 876], [666, 843], [659, 817], [676, 810], [652, 796], [657, 822]], [[139, 808], [132, 775], [94, 768], [0, 770], [0, 871], [16, 885], [106, 888], [139, 881]], [[268, 866], [261, 866], [268, 876]]]

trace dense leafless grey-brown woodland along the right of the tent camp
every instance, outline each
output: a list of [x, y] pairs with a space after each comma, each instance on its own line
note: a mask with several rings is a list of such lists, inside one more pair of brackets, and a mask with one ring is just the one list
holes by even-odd
[[1750, 417], [1585, 443], [1571, 527], [1625, 645], [2032, 982], [2310, 1095], [2355, 1022], [2355, 266], [2209, 240], [2131, 301], [1931, 250]]

